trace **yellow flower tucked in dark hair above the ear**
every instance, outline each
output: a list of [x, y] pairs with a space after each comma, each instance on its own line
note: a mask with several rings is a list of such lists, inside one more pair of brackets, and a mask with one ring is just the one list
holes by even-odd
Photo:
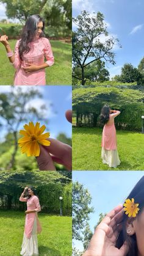
[[140, 210], [139, 203], [134, 203], [134, 198], [132, 200], [126, 199], [126, 203], [123, 204], [124, 208], [123, 210], [126, 211], [126, 214], [128, 214], [128, 217], [136, 217], [138, 211]]

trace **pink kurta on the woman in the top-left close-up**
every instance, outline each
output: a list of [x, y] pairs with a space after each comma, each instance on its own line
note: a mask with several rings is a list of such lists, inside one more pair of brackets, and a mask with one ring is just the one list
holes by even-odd
[[47, 63], [49, 66], [54, 64], [54, 56], [48, 38], [41, 37], [29, 43], [30, 51], [29, 53], [23, 54], [23, 60], [20, 59], [18, 52], [19, 42], [20, 40], [16, 42], [15, 62], [12, 64], [16, 69], [14, 86], [45, 86], [45, 68], [27, 74], [23, 67], [32, 64], [43, 65]]

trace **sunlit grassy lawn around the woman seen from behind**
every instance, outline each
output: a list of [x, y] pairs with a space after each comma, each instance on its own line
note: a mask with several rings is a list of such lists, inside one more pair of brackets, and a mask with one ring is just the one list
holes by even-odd
[[73, 128], [73, 170], [144, 170], [144, 134], [117, 131], [117, 168], [101, 161], [101, 135], [100, 128]]

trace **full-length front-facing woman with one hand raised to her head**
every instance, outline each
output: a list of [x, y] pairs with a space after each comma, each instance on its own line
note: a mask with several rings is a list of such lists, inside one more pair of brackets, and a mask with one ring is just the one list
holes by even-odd
[[[28, 196], [24, 195], [28, 192]], [[35, 196], [34, 189], [31, 187], [24, 188], [20, 196], [21, 202], [27, 202], [26, 222], [23, 236], [21, 255], [38, 256], [37, 233], [41, 232], [40, 222], [38, 221], [37, 212], [41, 211], [38, 197]]]

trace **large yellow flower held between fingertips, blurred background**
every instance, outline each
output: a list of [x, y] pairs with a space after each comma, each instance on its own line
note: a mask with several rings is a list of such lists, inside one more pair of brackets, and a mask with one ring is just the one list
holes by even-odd
[[34, 125], [33, 122], [29, 122], [29, 125], [24, 125], [24, 130], [20, 130], [20, 134], [23, 135], [21, 139], [18, 140], [19, 147], [22, 153], [26, 153], [27, 156], [39, 156], [40, 155], [40, 145], [49, 146], [50, 141], [46, 139], [49, 137], [49, 133], [43, 133], [46, 126], [40, 123]]

